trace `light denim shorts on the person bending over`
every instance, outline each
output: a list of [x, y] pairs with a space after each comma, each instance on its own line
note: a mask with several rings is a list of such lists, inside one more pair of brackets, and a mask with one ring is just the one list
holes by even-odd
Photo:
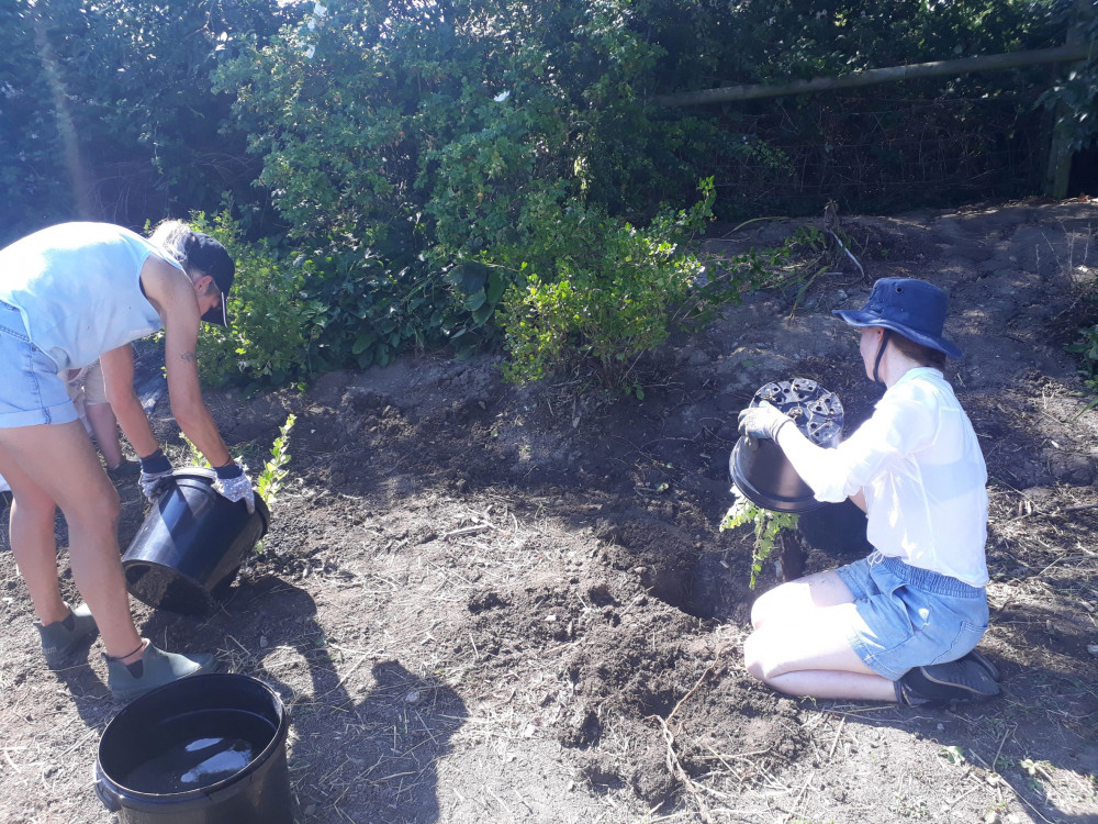
[[76, 417], [57, 365], [31, 343], [19, 309], [0, 300], [0, 428]]

